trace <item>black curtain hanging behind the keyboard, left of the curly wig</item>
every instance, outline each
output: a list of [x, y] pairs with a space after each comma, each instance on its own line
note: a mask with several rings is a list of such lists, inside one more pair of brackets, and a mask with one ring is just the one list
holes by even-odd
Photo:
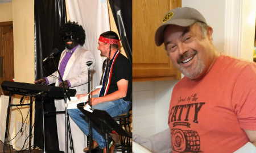
[[[61, 52], [65, 46], [58, 40], [59, 27], [67, 22], [65, 0], [35, 0], [35, 80], [47, 77], [56, 71], [52, 59], [43, 64], [43, 59], [52, 52], [52, 49], [59, 49], [55, 55], [55, 62], [59, 64]], [[44, 101], [45, 111], [54, 111], [53, 100]], [[64, 127], [63, 127], [64, 128]], [[57, 137], [56, 114], [45, 116], [46, 149], [59, 150]], [[43, 149], [43, 120], [42, 103], [35, 100], [35, 135], [34, 145]]]

